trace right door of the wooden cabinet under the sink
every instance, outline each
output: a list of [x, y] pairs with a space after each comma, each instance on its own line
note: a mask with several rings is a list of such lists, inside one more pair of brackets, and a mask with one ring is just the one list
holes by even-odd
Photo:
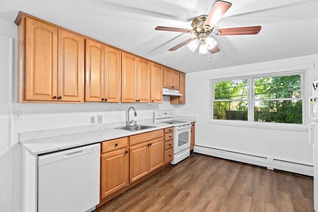
[[149, 172], [152, 172], [164, 163], [163, 138], [151, 140], [149, 144]]

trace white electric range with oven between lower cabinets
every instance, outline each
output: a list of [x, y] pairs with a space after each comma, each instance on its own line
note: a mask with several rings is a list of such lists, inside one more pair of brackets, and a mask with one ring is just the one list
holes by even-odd
[[173, 131], [173, 160], [171, 164], [176, 164], [190, 156], [190, 136], [191, 123], [187, 121], [173, 120], [172, 110], [160, 110], [154, 112], [154, 122], [172, 124]]

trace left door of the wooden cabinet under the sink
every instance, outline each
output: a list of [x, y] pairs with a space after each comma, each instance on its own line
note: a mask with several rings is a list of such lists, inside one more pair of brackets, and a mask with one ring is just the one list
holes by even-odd
[[129, 153], [129, 183], [132, 183], [149, 173], [148, 142], [129, 147]]

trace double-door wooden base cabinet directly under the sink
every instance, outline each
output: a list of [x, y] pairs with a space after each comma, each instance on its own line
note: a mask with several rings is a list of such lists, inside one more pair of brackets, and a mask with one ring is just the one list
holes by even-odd
[[164, 164], [163, 130], [132, 136], [130, 142], [136, 143], [129, 147], [129, 183], [132, 183]]

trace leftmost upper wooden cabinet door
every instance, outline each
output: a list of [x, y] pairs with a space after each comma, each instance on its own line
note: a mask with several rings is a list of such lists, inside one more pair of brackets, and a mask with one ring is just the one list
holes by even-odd
[[26, 18], [25, 100], [57, 100], [58, 29]]

